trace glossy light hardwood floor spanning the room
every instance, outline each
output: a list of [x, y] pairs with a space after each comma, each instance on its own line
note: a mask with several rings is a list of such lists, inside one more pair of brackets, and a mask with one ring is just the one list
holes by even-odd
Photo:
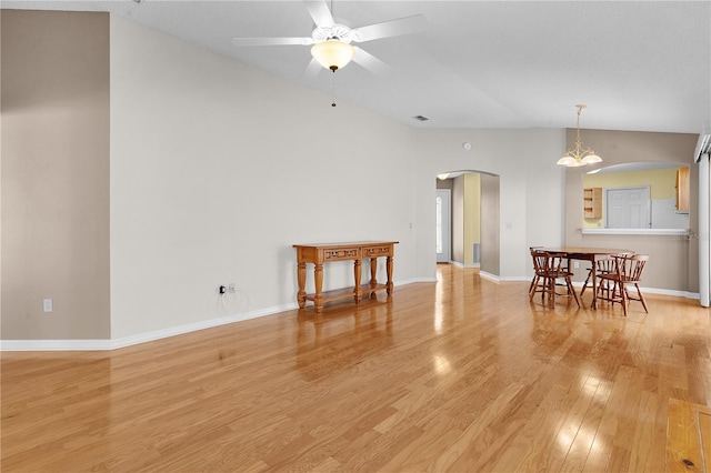
[[659, 472], [669, 400], [711, 405], [698, 301], [650, 294], [624, 318], [438, 276], [320, 319], [4, 352], [2, 472]]

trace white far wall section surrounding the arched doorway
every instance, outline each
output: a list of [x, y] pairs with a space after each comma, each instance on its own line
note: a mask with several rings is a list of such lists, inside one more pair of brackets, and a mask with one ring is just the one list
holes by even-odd
[[[563, 242], [564, 170], [555, 164], [565, 152], [563, 130], [422, 130], [418, 192], [418, 271], [434, 278], [434, 179], [449, 171], [482, 171], [500, 177], [501, 280], [525, 280], [529, 245]], [[462, 148], [472, 144], [471, 150]], [[485, 225], [487, 222], [482, 222]], [[431, 253], [431, 254], [430, 254]]]

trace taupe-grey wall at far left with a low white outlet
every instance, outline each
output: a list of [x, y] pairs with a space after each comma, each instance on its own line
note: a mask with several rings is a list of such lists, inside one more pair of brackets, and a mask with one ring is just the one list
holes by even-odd
[[109, 339], [109, 16], [1, 21], [2, 339]]

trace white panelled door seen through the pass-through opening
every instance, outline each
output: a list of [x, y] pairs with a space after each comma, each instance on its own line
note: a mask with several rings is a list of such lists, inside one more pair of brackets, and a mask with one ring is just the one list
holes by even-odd
[[649, 229], [649, 187], [605, 191], [608, 229]]

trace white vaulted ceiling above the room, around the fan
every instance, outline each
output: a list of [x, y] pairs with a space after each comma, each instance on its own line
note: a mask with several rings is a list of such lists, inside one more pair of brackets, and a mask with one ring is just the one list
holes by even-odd
[[[711, 124], [711, 2], [341, 1], [352, 28], [413, 14], [421, 32], [362, 49], [392, 67], [304, 74], [309, 46], [237, 47], [236, 37], [309, 37], [292, 1], [2, 1], [3, 9], [110, 11], [412, 127], [581, 128], [699, 133]], [[429, 120], [419, 121], [414, 117]]]

